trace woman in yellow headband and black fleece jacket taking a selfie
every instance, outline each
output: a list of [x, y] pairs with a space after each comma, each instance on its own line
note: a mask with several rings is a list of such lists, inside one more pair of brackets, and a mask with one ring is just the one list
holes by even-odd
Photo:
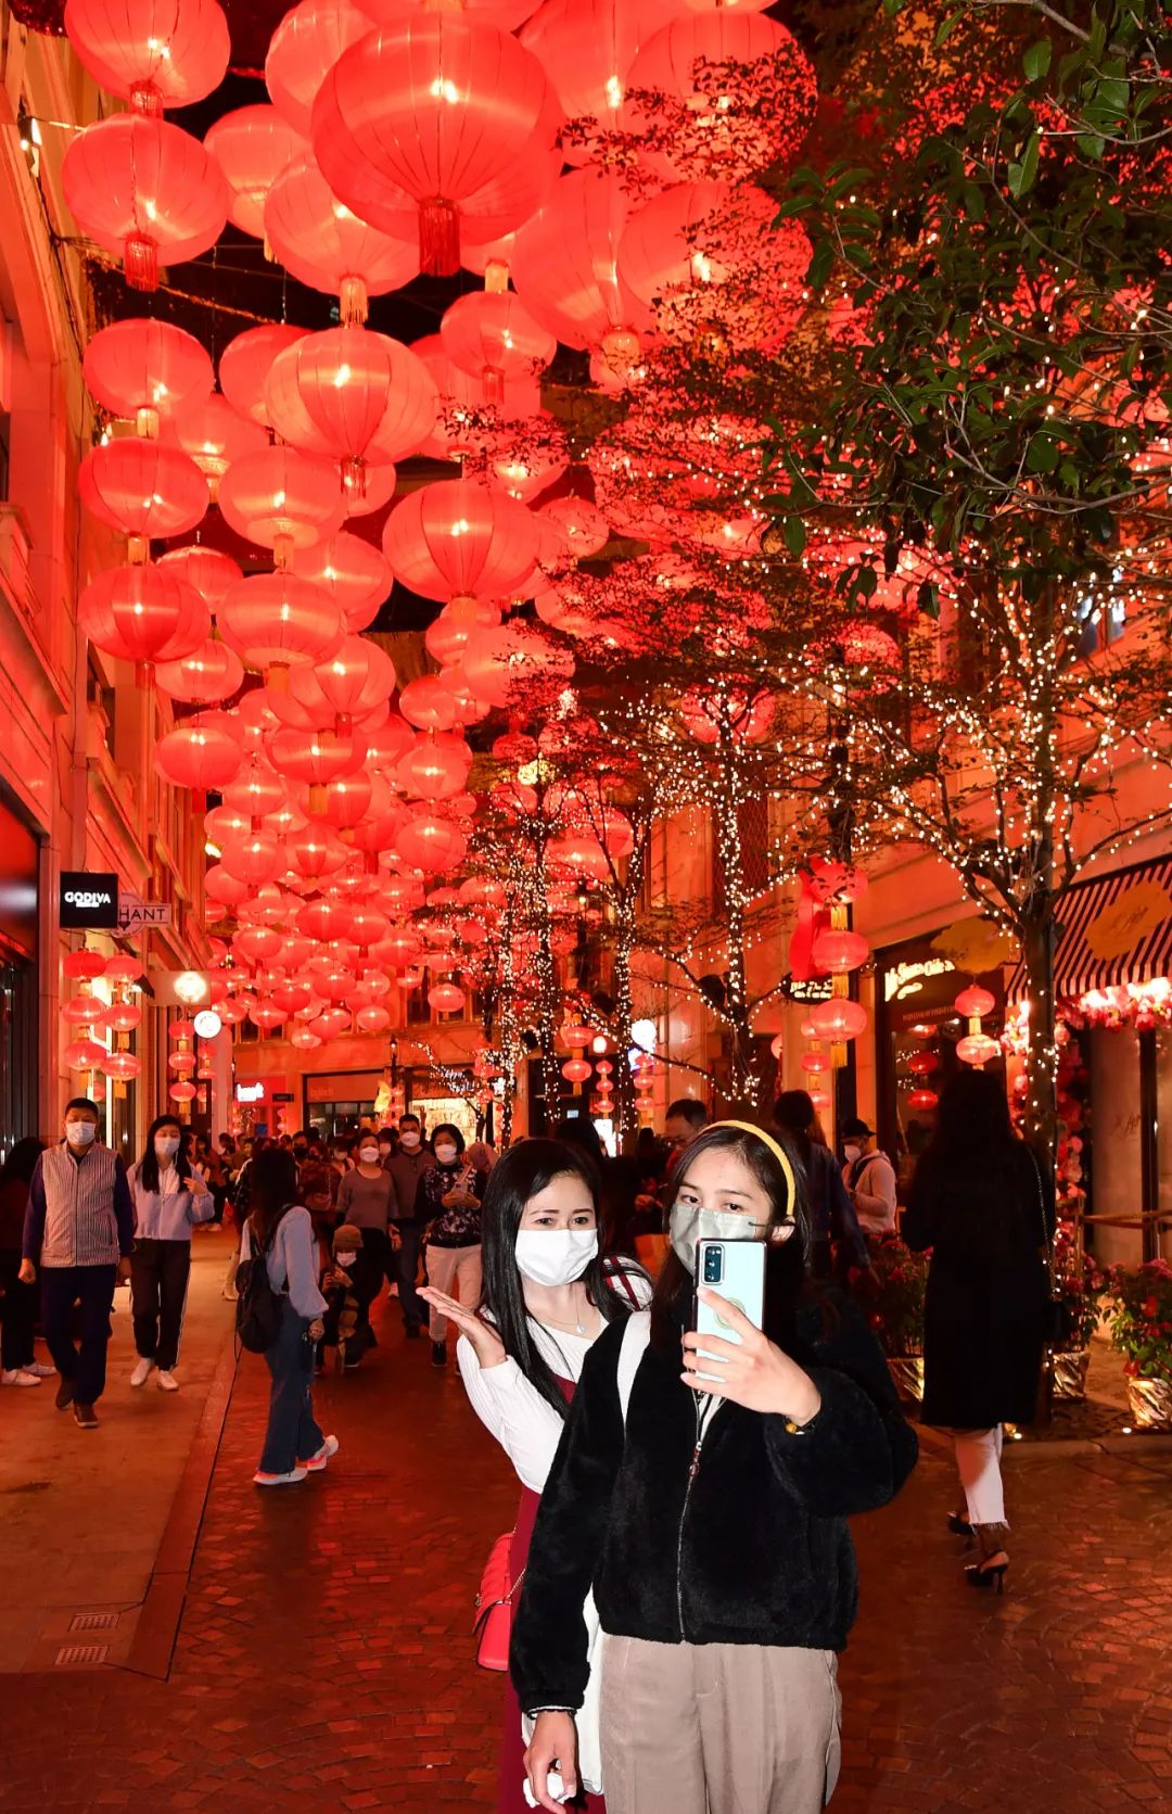
[[[649, 1313], [582, 1368], [533, 1531], [512, 1643], [537, 1716], [530, 1790], [557, 1814], [577, 1787], [593, 1584], [610, 1814], [815, 1814], [838, 1776], [858, 1591], [845, 1520], [894, 1497], [916, 1439], [862, 1315], [807, 1282], [778, 1139], [706, 1128], [671, 1179], [668, 1235]], [[704, 1239], [767, 1244], [762, 1330], [697, 1293]], [[693, 1331], [697, 1297], [728, 1339]]]

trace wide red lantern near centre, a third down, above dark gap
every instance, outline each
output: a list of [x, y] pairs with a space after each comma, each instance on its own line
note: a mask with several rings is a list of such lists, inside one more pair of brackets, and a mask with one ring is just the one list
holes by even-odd
[[533, 571], [537, 528], [515, 499], [470, 479], [441, 479], [392, 512], [383, 550], [396, 579], [425, 599], [497, 599]]

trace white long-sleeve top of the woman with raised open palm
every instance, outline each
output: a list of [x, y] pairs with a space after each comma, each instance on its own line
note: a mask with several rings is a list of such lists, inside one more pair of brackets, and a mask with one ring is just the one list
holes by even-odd
[[[651, 1284], [642, 1273], [628, 1272], [640, 1306], [651, 1299]], [[597, 1335], [571, 1335], [548, 1330], [530, 1317], [530, 1330], [542, 1360], [562, 1379], [579, 1380]], [[601, 1331], [599, 1331], [601, 1333]], [[566, 1419], [524, 1377], [512, 1357], [499, 1366], [481, 1368], [466, 1335], [455, 1344], [455, 1360], [468, 1402], [517, 1471], [523, 1486], [541, 1493], [553, 1466]]]

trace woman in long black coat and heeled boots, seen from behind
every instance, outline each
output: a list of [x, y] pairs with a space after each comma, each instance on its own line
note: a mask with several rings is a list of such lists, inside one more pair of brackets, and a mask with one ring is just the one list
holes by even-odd
[[923, 1422], [952, 1431], [967, 1500], [949, 1526], [980, 1542], [971, 1585], [1000, 1591], [1009, 1567], [1001, 1424], [1030, 1424], [1038, 1409], [1054, 1235], [1054, 1181], [1014, 1134], [1001, 1078], [965, 1070], [949, 1083], [902, 1235], [914, 1252], [931, 1248]]

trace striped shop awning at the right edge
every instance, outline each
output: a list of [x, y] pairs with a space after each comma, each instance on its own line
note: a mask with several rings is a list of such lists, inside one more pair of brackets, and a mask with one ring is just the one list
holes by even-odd
[[[1172, 856], [1136, 863], [1112, 876], [1076, 882], [1058, 911], [1054, 992], [1085, 996], [1089, 989], [1150, 983], [1172, 972]], [[1018, 961], [1009, 1000], [1027, 992]]]

